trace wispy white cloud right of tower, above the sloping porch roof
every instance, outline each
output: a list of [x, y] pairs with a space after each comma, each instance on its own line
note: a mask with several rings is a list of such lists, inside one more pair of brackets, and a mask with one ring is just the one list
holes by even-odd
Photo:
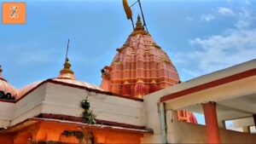
[[177, 63], [187, 78], [195, 78], [256, 58], [256, 14], [242, 8], [236, 27], [209, 37], [190, 40], [191, 48], [176, 55]]

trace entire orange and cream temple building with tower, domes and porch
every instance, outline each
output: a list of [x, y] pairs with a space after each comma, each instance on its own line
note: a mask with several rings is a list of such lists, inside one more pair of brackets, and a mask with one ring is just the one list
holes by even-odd
[[256, 60], [181, 82], [143, 14], [133, 24], [123, 3], [133, 30], [100, 86], [76, 79], [67, 56], [55, 78], [21, 89], [0, 67], [0, 143], [255, 143]]

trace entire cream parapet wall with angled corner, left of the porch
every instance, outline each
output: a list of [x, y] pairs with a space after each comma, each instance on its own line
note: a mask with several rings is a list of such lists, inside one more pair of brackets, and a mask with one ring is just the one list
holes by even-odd
[[117, 96], [96, 94], [61, 84], [40, 85], [26, 97], [14, 103], [0, 103], [0, 126], [18, 124], [40, 113], [64, 114], [80, 117], [83, 108], [80, 102], [89, 96], [91, 109], [96, 118], [117, 123], [145, 125], [143, 102]]

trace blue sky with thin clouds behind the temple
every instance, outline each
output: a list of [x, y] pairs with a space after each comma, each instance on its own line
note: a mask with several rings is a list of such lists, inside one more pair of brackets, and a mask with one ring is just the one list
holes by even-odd
[[[256, 58], [256, 1], [142, 3], [148, 31], [182, 81]], [[135, 19], [139, 10], [132, 10]], [[76, 78], [99, 85], [101, 68], [111, 63], [131, 31], [121, 0], [27, 1], [26, 25], [0, 24], [3, 77], [16, 88], [55, 78], [70, 38]]]

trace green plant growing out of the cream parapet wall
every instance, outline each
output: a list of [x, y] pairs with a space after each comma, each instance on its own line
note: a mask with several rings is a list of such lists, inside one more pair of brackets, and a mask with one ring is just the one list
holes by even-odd
[[84, 119], [85, 124], [96, 124], [96, 114], [94, 114], [90, 110], [90, 101], [88, 100], [88, 96], [81, 101], [81, 107], [84, 108], [84, 112], [82, 113], [82, 117]]

